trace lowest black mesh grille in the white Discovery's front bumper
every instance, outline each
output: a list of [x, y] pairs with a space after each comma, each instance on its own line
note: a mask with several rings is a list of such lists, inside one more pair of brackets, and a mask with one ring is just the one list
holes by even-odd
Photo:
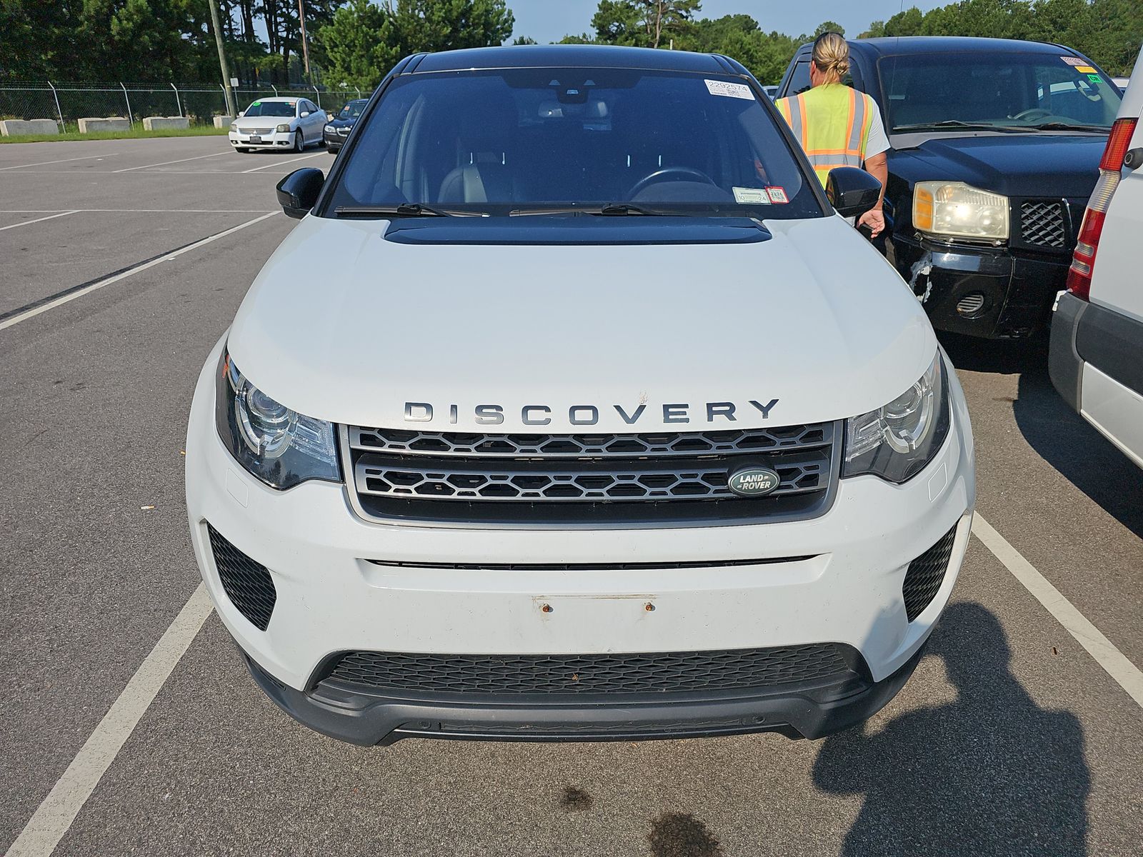
[[741, 690], [856, 676], [836, 643], [612, 655], [410, 655], [351, 651], [325, 680], [397, 694], [647, 694]]

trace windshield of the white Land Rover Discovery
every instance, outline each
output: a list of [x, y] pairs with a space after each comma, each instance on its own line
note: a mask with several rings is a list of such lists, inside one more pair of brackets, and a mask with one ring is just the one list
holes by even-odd
[[822, 213], [753, 89], [630, 69], [399, 77], [336, 181], [330, 214], [402, 203], [493, 215], [608, 203], [630, 203], [625, 214]]

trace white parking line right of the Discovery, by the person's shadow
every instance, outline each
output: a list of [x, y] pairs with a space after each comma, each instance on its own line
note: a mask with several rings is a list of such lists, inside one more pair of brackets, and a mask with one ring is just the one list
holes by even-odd
[[1036, 567], [1008, 543], [1008, 539], [992, 529], [992, 526], [980, 513], [973, 518], [973, 532], [1004, 563], [1004, 567], [1012, 571], [1013, 576], [1024, 585], [1024, 588], [1044, 604], [1047, 611], [1056, 618], [1056, 622], [1063, 625], [1068, 633], [1087, 649], [1087, 652], [1106, 671], [1108, 675], [1114, 679], [1119, 687], [1143, 707], [1143, 671], [1140, 671], [1124, 652], [1116, 648], [1114, 643], [1101, 633], [1100, 628], [1064, 598], [1060, 590], [1037, 571]]

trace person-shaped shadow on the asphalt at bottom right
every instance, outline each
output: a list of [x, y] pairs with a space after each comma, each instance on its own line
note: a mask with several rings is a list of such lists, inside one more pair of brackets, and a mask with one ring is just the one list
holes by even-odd
[[822, 745], [815, 785], [865, 796], [842, 854], [1086, 855], [1079, 720], [1037, 706], [1008, 671], [1000, 623], [980, 604], [950, 606], [928, 654], [944, 658], [956, 702]]

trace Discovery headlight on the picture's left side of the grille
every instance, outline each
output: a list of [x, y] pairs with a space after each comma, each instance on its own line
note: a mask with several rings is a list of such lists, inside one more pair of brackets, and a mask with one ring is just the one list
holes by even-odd
[[334, 426], [275, 402], [223, 352], [215, 379], [218, 436], [239, 464], [271, 488], [307, 479], [341, 482]]

